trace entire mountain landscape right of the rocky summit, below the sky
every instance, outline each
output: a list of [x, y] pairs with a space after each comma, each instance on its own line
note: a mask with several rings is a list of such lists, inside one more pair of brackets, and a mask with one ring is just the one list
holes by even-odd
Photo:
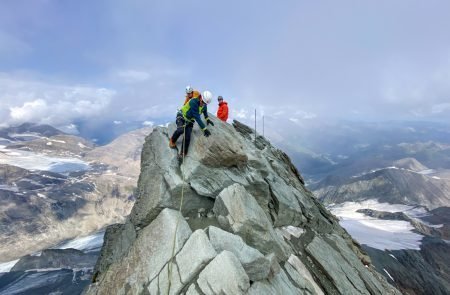
[[347, 122], [314, 132], [312, 143], [289, 142], [308, 188], [402, 292], [448, 294], [450, 128]]

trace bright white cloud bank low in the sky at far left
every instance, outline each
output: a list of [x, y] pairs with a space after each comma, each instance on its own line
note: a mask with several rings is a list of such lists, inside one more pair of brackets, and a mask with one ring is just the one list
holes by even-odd
[[0, 75], [0, 123], [64, 126], [104, 114], [116, 92], [91, 86], [50, 84]]

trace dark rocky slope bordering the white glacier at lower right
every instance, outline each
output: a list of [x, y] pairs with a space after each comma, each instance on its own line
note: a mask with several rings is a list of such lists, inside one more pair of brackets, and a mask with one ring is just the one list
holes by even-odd
[[450, 208], [434, 209], [422, 220], [403, 212], [382, 212], [361, 209], [371, 217], [385, 220], [408, 221], [415, 231], [424, 235], [419, 250], [379, 250], [363, 245], [373, 265], [386, 279], [404, 294], [448, 294], [450, 290]]

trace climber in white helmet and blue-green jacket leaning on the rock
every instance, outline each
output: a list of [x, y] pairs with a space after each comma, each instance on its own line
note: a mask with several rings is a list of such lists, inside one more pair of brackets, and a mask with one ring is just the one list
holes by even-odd
[[212, 93], [209, 91], [204, 91], [203, 94], [197, 94], [192, 97], [188, 103], [183, 105], [181, 110], [177, 113], [177, 130], [173, 133], [169, 140], [169, 146], [171, 148], [176, 148], [176, 142], [178, 138], [184, 133], [184, 141], [181, 145], [180, 156], [185, 156], [189, 149], [189, 143], [191, 142], [192, 128], [194, 128], [194, 123], [197, 121], [200, 129], [203, 131], [203, 135], [208, 137], [211, 132], [206, 128], [205, 123], [203, 123], [200, 115], [203, 114], [205, 117], [207, 125], [214, 126], [214, 123], [208, 117], [207, 104], [211, 102]]

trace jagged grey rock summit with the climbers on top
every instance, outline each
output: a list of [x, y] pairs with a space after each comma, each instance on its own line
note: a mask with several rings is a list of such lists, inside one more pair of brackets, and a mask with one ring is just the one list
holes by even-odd
[[146, 138], [136, 203], [107, 230], [87, 294], [400, 294], [286, 154], [214, 123], [181, 165], [174, 126]]

